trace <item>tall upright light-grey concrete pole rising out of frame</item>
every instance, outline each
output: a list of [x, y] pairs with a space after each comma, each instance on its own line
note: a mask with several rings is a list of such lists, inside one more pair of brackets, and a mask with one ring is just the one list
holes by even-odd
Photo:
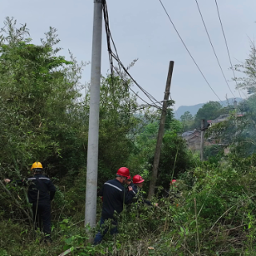
[[98, 125], [102, 61], [102, 0], [94, 0], [94, 27], [90, 74], [90, 117], [86, 170], [85, 226], [96, 225], [98, 178]]

